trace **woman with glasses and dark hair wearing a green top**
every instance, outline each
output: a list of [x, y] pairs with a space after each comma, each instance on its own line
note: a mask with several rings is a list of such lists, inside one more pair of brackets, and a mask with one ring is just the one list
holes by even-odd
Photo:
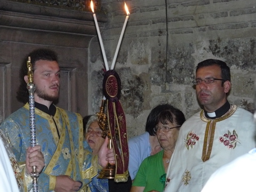
[[157, 122], [154, 132], [163, 150], [144, 159], [132, 183], [131, 192], [164, 190], [166, 171], [185, 116], [182, 111], [169, 105], [168, 109], [159, 113]]

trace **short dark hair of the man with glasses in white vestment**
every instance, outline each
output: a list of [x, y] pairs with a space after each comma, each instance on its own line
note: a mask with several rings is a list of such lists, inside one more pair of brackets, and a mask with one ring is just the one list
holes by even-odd
[[226, 62], [218, 60], [218, 59], [206, 59], [202, 62], [199, 62], [196, 67], [196, 72], [198, 69], [202, 67], [212, 66], [212, 65], [218, 65], [221, 69], [221, 78], [224, 79], [222, 82], [222, 85], [225, 81], [230, 81], [230, 69]]

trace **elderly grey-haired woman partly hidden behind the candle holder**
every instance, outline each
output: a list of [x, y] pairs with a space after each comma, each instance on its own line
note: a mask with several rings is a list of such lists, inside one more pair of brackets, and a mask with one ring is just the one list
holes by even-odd
[[[88, 145], [91, 148], [90, 153], [92, 155], [98, 155], [100, 147], [102, 146], [105, 139], [102, 138], [102, 130], [98, 124], [98, 118], [96, 115], [86, 116], [83, 119], [84, 123], [84, 137]], [[131, 189], [132, 181], [129, 177], [127, 182], [114, 182], [114, 179], [98, 179], [98, 175], [92, 178], [89, 183], [88, 191], [92, 192], [111, 192], [111, 191], [122, 191], [128, 192]]]

